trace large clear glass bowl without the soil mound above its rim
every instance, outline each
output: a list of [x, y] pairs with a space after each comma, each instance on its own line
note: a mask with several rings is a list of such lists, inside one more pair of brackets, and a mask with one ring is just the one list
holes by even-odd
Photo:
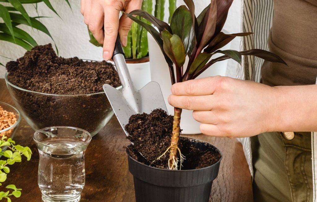
[[39, 93], [12, 84], [8, 72], [4, 78], [16, 107], [36, 131], [51, 126], [72, 126], [94, 136], [114, 114], [104, 92], [85, 95]]

